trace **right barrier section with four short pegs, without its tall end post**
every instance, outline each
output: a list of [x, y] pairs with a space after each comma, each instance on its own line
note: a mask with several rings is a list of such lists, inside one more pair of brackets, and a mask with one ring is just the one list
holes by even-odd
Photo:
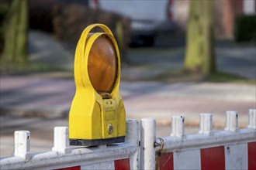
[[212, 131], [212, 114], [200, 115], [199, 134], [185, 135], [184, 117], [172, 117], [171, 137], [157, 138], [158, 169], [256, 169], [256, 119], [238, 129], [238, 114], [227, 111], [225, 131]]

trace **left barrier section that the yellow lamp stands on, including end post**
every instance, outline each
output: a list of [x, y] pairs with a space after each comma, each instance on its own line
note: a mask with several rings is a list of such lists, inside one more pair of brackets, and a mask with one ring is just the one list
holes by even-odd
[[68, 128], [54, 128], [52, 151], [32, 155], [29, 131], [15, 132], [14, 157], [1, 158], [0, 169], [138, 169], [139, 126], [126, 121], [126, 142], [97, 147], [69, 147]]

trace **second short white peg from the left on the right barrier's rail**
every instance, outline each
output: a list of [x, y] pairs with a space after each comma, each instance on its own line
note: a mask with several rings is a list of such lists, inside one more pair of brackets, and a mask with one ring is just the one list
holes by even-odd
[[213, 135], [213, 114], [200, 114], [199, 134]]

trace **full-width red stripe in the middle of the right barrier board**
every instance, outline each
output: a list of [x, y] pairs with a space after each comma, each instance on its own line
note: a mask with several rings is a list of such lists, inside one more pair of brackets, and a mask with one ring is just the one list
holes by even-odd
[[225, 150], [223, 146], [200, 149], [201, 169], [225, 169]]

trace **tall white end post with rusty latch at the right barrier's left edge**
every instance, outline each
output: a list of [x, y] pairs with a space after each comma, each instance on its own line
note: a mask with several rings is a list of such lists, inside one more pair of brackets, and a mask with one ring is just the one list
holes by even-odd
[[141, 119], [140, 125], [140, 169], [155, 169], [156, 122], [154, 118]]

